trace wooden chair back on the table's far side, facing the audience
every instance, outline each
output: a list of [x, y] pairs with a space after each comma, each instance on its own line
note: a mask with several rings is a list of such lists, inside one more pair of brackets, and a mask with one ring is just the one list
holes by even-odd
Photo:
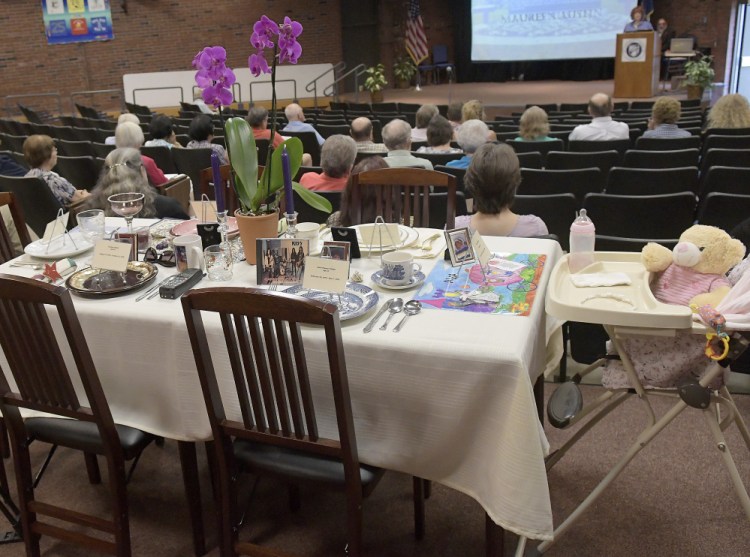
[[[430, 192], [447, 192], [445, 223], [456, 222], [456, 177], [422, 168], [383, 168], [352, 174], [355, 222], [370, 222], [365, 213], [385, 222], [430, 226]], [[367, 207], [365, 207], [367, 206]], [[362, 220], [365, 219], [365, 220]]]

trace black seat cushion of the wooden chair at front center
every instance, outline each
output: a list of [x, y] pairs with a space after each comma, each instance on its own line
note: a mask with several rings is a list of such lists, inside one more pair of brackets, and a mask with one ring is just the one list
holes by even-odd
[[[255, 443], [246, 439], [234, 442], [234, 454], [248, 471], [290, 478], [305, 482], [338, 485], [345, 489], [344, 463], [335, 458], [303, 453], [285, 447]], [[367, 464], [359, 465], [362, 487], [375, 484], [384, 470]]]

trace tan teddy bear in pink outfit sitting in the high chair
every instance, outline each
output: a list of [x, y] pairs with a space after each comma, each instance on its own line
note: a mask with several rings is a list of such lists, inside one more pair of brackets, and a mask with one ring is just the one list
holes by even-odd
[[654, 296], [667, 304], [716, 307], [731, 287], [729, 269], [742, 261], [745, 246], [721, 228], [696, 224], [685, 230], [673, 250], [649, 242], [641, 250], [646, 270], [659, 273]]

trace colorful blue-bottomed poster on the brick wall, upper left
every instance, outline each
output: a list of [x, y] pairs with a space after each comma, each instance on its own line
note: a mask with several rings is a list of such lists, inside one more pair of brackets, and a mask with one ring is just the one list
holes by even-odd
[[48, 44], [114, 38], [109, 0], [42, 0]]

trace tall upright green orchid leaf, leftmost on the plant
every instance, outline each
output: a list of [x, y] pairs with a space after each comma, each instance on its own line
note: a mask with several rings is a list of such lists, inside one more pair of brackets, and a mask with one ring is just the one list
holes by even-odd
[[255, 213], [260, 204], [254, 204], [258, 191], [258, 151], [253, 130], [244, 118], [229, 118], [224, 129], [237, 198], [243, 210]]

